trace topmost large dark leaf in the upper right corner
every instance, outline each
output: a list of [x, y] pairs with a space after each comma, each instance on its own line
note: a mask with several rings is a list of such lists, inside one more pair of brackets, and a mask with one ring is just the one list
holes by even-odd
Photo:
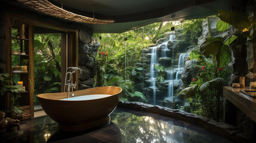
[[236, 13], [224, 10], [218, 10], [218, 17], [226, 23], [232, 24], [239, 31], [251, 27], [248, 13]]

